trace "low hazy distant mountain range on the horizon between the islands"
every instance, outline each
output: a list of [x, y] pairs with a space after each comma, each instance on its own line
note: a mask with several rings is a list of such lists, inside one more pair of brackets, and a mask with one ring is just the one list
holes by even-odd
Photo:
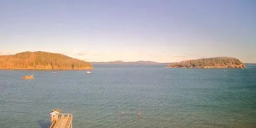
[[109, 61], [109, 62], [91, 62], [93, 65], [103, 65], [103, 64], [116, 64], [116, 65], [168, 65], [169, 63], [160, 63], [160, 62], [154, 62], [154, 61], [130, 61], [130, 62], [124, 62], [121, 60], [117, 61]]

